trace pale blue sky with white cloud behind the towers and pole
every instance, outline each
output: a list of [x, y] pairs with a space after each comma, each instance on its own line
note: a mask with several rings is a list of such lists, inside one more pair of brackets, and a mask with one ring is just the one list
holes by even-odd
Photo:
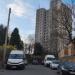
[[[70, 0], [63, 0], [70, 3]], [[9, 33], [19, 29], [20, 36], [26, 40], [29, 34], [35, 34], [36, 10], [49, 9], [50, 0], [0, 0], [0, 24], [7, 25], [8, 12], [11, 8]]]

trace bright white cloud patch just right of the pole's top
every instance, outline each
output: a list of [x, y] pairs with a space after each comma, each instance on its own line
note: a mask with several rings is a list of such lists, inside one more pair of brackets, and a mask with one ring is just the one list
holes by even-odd
[[16, 16], [23, 16], [25, 13], [22, 2], [19, 3], [18, 1], [14, 1], [13, 3], [8, 4], [7, 7], [11, 8], [12, 13]]

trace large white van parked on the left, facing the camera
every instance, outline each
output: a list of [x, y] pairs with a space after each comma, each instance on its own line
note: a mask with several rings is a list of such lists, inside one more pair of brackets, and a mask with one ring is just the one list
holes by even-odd
[[6, 68], [20, 68], [24, 69], [27, 64], [27, 59], [24, 51], [12, 50], [9, 54]]

